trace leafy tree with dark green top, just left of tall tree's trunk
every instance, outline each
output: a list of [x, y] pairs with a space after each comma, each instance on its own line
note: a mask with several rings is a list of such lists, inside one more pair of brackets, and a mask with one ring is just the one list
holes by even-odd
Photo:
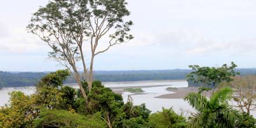
[[47, 109], [71, 108], [76, 92], [71, 87], [63, 87], [63, 81], [69, 74], [68, 70], [57, 70], [43, 77], [37, 84], [37, 104]]

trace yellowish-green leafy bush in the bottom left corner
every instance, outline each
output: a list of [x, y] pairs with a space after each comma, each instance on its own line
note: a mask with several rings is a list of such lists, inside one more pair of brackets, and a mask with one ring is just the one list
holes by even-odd
[[38, 110], [33, 96], [13, 91], [10, 93], [10, 105], [0, 108], [0, 127], [29, 127]]

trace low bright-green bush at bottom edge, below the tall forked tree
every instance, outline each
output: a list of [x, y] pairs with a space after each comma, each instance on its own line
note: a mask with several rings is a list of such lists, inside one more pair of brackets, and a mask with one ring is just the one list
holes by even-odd
[[106, 127], [99, 113], [83, 116], [63, 110], [42, 110], [33, 127]]

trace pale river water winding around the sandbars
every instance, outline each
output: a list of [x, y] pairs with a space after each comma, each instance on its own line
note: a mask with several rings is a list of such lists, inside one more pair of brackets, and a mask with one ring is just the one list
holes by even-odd
[[[173, 92], [166, 91], [167, 87], [188, 87], [186, 80], [155, 80], [155, 81], [130, 81], [130, 82], [104, 82], [105, 87], [112, 88], [122, 88], [122, 87], [141, 87], [144, 91], [143, 94], [133, 95], [129, 92], [122, 93], [123, 100], [127, 101], [127, 96], [131, 95], [135, 105], [140, 105], [145, 103], [148, 109], [152, 112], [161, 111], [162, 107], [170, 108], [172, 107], [177, 113], [183, 112], [184, 115], [190, 115], [190, 112], [194, 112], [194, 109], [182, 98], [177, 99], [163, 99], [155, 98], [163, 94], [170, 94]], [[76, 84], [66, 84], [73, 88], [79, 88]], [[33, 94], [35, 92], [35, 87], [8, 87], [2, 88], [0, 90], [0, 106], [8, 104], [9, 95], [8, 93], [12, 91], [22, 91], [25, 94]], [[255, 112], [253, 112], [255, 116]]]

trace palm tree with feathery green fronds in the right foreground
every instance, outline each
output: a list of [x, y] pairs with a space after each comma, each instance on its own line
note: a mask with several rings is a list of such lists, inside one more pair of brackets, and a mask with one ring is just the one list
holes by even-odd
[[235, 127], [239, 112], [234, 110], [227, 99], [232, 89], [222, 88], [209, 99], [200, 93], [189, 93], [184, 98], [197, 111], [189, 118], [191, 127]]

